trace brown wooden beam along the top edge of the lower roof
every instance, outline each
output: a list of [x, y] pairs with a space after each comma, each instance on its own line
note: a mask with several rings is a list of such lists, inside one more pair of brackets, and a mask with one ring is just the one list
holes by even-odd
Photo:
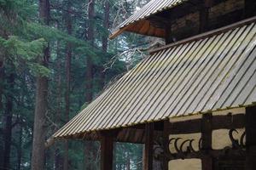
[[218, 28], [218, 29], [215, 29], [215, 30], [212, 30], [212, 31], [207, 31], [207, 32], [195, 35], [193, 37], [188, 37], [188, 38], [182, 39], [182, 40], [177, 41], [177, 42], [172, 42], [172, 43], [167, 44], [167, 45], [165, 45], [163, 47], [160, 47], [160, 48], [154, 48], [152, 50], [149, 50], [148, 52], [149, 52], [149, 54], [154, 54], [154, 53], [157, 53], [160, 50], [164, 50], [166, 48], [171, 48], [173, 46], [177, 46], [177, 45], [187, 43], [187, 42], [198, 41], [198, 40], [204, 39], [206, 37], [211, 37], [213, 35], [217, 35], [217, 34], [220, 34], [220, 33], [224, 33], [224, 32], [236, 29], [237, 27], [246, 26], [246, 25], [251, 24], [255, 21], [256, 21], [256, 16], [253, 16], [252, 18], [238, 21], [238, 22], [236, 22], [234, 24], [231, 24], [229, 26], [223, 26], [221, 28]]

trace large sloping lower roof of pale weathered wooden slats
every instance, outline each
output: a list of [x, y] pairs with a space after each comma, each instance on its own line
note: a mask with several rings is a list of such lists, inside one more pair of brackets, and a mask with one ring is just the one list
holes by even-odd
[[255, 101], [253, 21], [151, 54], [54, 137], [253, 105]]

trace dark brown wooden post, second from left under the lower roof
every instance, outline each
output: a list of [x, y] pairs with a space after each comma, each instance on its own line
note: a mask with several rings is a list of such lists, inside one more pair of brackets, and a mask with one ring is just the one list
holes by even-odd
[[145, 136], [143, 170], [153, 170], [154, 123], [146, 123]]

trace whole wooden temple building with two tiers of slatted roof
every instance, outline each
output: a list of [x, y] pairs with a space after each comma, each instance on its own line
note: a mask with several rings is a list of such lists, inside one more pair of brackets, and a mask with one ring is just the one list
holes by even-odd
[[55, 134], [144, 145], [143, 169], [256, 169], [256, 1], [151, 0], [124, 31], [165, 39]]

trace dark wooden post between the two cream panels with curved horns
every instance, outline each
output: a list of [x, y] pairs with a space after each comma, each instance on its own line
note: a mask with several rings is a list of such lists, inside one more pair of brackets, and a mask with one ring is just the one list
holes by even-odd
[[209, 151], [212, 150], [212, 114], [204, 114], [201, 121], [201, 139], [202, 139], [202, 170], [212, 170], [212, 156]]

